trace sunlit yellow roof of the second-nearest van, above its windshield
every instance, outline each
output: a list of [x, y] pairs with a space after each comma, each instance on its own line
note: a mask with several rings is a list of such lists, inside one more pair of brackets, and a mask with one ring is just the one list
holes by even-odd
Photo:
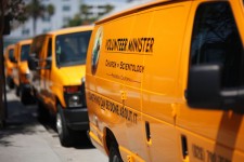
[[68, 27], [68, 28], [63, 28], [63, 29], [47, 32], [47, 35], [63, 35], [68, 32], [86, 31], [86, 30], [92, 30], [92, 29], [93, 29], [93, 25]]

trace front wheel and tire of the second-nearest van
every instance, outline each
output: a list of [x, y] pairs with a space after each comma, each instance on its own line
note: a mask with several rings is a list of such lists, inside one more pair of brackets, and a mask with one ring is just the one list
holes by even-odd
[[60, 143], [64, 147], [70, 147], [74, 143], [72, 130], [69, 130], [66, 125], [62, 106], [57, 104], [56, 107], [56, 131], [60, 137]]

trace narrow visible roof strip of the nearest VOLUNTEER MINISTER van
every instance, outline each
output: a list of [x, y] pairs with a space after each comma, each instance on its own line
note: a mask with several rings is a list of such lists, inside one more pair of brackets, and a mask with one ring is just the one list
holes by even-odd
[[150, 6], [153, 6], [153, 5], [157, 5], [157, 4], [160, 4], [160, 3], [165, 3], [165, 2], [177, 2], [177, 0], [153, 0], [153, 1], [150, 1], [147, 3], [141, 4], [141, 5], [137, 5], [134, 8], [131, 8], [131, 9], [121, 11], [121, 12], [118, 12], [118, 13], [116, 13], [114, 15], [111, 15], [108, 17], [105, 17], [103, 19], [100, 19], [100, 21], [95, 22], [95, 24], [99, 25], [99, 24], [102, 24], [102, 23], [105, 23], [105, 22], [108, 22], [108, 21], [112, 21], [112, 19], [121, 17], [121, 16], [125, 16], [125, 15], [134, 13], [134, 12], [139, 12], [139, 11], [141, 11], [143, 9], [146, 9], [146, 8], [150, 8]]

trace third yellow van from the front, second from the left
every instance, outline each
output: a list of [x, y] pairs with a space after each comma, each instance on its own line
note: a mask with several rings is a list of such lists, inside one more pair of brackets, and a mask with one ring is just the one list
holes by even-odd
[[21, 97], [21, 102], [24, 105], [33, 103], [30, 98], [29, 68], [27, 64], [31, 42], [31, 39], [22, 40], [14, 46], [14, 62], [16, 66], [13, 68], [13, 82], [15, 93]]

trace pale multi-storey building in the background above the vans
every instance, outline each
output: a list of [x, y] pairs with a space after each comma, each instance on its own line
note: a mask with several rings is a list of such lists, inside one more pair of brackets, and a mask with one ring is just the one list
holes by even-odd
[[[25, 0], [26, 4], [30, 1], [31, 0]], [[40, 0], [44, 5], [53, 5], [54, 14], [52, 16], [46, 15], [37, 19], [36, 35], [67, 26], [68, 22], [80, 13], [81, 5], [87, 6], [87, 9], [85, 9], [87, 10], [85, 11], [87, 14], [82, 13], [79, 16], [87, 16], [88, 18], [94, 17], [97, 19], [147, 1], [150, 0]], [[110, 12], [107, 12], [107, 10], [110, 10], [108, 5], [113, 6], [113, 10]], [[31, 37], [34, 37], [33, 18], [28, 18], [24, 24], [13, 29], [10, 36], [4, 37], [4, 46]]]

